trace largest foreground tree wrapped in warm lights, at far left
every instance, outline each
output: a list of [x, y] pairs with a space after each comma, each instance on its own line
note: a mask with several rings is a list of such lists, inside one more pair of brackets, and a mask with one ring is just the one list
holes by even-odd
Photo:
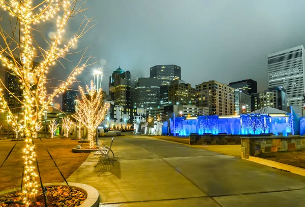
[[[17, 97], [0, 80], [2, 87], [22, 107], [23, 128], [21, 130], [26, 138], [23, 149], [24, 186], [22, 188], [26, 196], [22, 201], [26, 205], [35, 201], [38, 192], [36, 152], [32, 140], [37, 136], [38, 123], [42, 119], [44, 110], [51, 105], [52, 99], [58, 93], [64, 92], [75, 82], [76, 75], [90, 65], [88, 64], [90, 58], [83, 59], [86, 49], [83, 50], [83, 55], [67, 80], [63, 81], [59, 87], [55, 87], [51, 93], [46, 90], [46, 82], [50, 79], [47, 75], [55, 63], [63, 65], [60, 59], [67, 59], [67, 55], [73, 54], [69, 50], [91, 27], [89, 24], [92, 22], [85, 18], [72, 38], [65, 41], [64, 37], [69, 34], [65, 31], [68, 20], [83, 11], [83, 4], [77, 8], [77, 0], [42, 0], [35, 3], [31, 0], [0, 0], [0, 8], [3, 9], [1, 13], [7, 12], [10, 15], [10, 22], [6, 25], [11, 25], [11, 28], [5, 31], [4, 20], [2, 16], [0, 17], [0, 37], [3, 42], [0, 46], [0, 63], [3, 64], [3, 70], [17, 77], [23, 96]], [[43, 24], [45, 21], [53, 23], [55, 28], [50, 27], [50, 24]], [[49, 28], [52, 29], [48, 31]], [[47, 32], [53, 32], [54, 35], [49, 36], [50, 38], [45, 37], [44, 34]], [[43, 40], [43, 43], [40, 44], [34, 37], [42, 37], [40, 40]], [[39, 63], [34, 64], [34, 61]], [[0, 92], [1, 110], [6, 111], [12, 117], [12, 123], [18, 125], [7, 101], [4, 98], [4, 92]]]

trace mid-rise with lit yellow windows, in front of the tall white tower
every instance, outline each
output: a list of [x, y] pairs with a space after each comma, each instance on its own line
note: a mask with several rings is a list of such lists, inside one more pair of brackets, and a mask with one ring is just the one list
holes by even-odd
[[251, 111], [272, 107], [287, 112], [287, 93], [283, 87], [274, 87], [262, 93], [251, 94]]

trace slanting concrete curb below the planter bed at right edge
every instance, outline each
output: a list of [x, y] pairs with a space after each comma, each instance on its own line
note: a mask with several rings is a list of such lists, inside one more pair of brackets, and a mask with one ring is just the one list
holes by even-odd
[[292, 172], [293, 174], [297, 174], [300, 176], [305, 176], [305, 169], [300, 168], [300, 167], [295, 167], [295, 166], [292, 166], [289, 164], [284, 164], [284, 163], [267, 160], [267, 159], [263, 159], [263, 158], [259, 158], [259, 157], [254, 157], [254, 156], [249, 156], [249, 161], [267, 165], [269, 167], [274, 167], [277, 169], [286, 170], [286, 171]]

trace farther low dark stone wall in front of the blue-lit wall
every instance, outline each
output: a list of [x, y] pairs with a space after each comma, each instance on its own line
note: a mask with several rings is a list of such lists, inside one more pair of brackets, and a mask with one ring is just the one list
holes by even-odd
[[190, 145], [238, 145], [240, 135], [233, 134], [195, 134], [191, 133]]

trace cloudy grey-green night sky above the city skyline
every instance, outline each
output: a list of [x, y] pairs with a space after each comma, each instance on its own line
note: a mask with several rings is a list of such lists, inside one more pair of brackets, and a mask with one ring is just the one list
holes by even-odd
[[[249, 78], [263, 91], [267, 55], [305, 44], [302, 0], [88, 0], [86, 6], [84, 15], [93, 17], [96, 26], [77, 49], [90, 46], [88, 54], [101, 60], [95, 67], [103, 68], [107, 92], [109, 76], [119, 65], [134, 78], [149, 77], [156, 64], [181, 66], [181, 79], [193, 87], [208, 80]], [[82, 18], [69, 22], [68, 35]], [[69, 59], [67, 71], [58, 65], [51, 72], [55, 80], [68, 74], [77, 56]], [[88, 68], [79, 80], [88, 83], [93, 70]]]

